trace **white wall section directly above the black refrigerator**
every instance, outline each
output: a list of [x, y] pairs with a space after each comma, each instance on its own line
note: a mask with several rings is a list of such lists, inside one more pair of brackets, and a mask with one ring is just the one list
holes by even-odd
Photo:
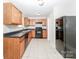
[[53, 8], [54, 19], [61, 16], [75, 16], [76, 15], [76, 0], [67, 0], [56, 5]]

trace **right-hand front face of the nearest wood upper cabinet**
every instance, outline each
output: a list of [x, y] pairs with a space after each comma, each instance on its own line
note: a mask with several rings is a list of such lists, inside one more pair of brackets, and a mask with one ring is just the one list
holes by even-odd
[[22, 13], [14, 5], [12, 6], [12, 24], [22, 24]]

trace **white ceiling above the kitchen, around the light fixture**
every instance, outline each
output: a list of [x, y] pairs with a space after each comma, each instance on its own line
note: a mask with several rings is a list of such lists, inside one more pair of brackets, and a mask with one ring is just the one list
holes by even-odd
[[44, 0], [44, 5], [40, 6], [39, 0], [11, 0], [11, 2], [22, 11], [27, 17], [47, 17], [53, 7], [63, 0]]

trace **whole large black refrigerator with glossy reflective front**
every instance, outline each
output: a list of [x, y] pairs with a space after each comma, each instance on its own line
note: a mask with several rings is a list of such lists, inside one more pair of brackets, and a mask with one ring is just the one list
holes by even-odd
[[76, 58], [76, 16], [56, 19], [56, 49], [64, 58]]

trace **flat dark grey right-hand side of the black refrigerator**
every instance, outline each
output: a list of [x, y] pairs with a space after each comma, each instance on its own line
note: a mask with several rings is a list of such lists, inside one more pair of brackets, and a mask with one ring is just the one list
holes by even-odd
[[[75, 57], [76, 53], [76, 17], [75, 16], [66, 16], [64, 20], [65, 31], [65, 48], [67, 54], [66, 57]], [[66, 55], [67, 55], [66, 54]]]

